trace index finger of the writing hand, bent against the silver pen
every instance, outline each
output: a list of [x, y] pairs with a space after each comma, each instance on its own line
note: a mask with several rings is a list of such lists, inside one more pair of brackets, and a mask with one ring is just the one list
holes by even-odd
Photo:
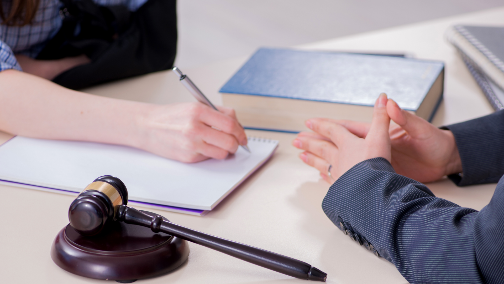
[[209, 125], [219, 128], [220, 130], [233, 135], [239, 145], [247, 145], [247, 136], [245, 130], [238, 123], [236, 117], [231, 117], [225, 113], [221, 113], [208, 107], [202, 112], [201, 120]]

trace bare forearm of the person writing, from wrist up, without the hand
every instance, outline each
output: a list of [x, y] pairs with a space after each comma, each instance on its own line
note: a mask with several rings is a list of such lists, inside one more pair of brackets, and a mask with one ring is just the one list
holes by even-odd
[[137, 146], [151, 105], [94, 96], [16, 70], [0, 72], [0, 130], [36, 138]]

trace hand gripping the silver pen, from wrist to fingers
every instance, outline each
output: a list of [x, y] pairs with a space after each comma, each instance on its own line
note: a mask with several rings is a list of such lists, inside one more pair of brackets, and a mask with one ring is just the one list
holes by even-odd
[[234, 110], [218, 108], [198, 102], [155, 106], [140, 119], [140, 141], [133, 146], [186, 163], [224, 159], [247, 137]]

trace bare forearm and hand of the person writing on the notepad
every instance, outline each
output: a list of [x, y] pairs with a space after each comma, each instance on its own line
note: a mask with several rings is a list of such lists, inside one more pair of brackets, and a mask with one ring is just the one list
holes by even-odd
[[105, 98], [16, 70], [0, 72], [0, 86], [0, 130], [16, 135], [132, 146], [182, 162], [224, 159], [247, 144], [228, 108]]

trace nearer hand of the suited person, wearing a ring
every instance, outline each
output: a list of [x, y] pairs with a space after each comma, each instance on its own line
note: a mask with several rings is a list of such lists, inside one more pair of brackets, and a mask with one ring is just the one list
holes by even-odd
[[306, 126], [315, 133], [301, 132], [292, 144], [305, 150], [299, 157], [306, 164], [318, 169], [326, 181], [333, 183], [367, 159], [383, 157], [391, 161], [389, 124], [387, 95], [382, 93], [374, 104], [373, 119], [365, 137], [355, 135], [334, 120], [313, 118], [306, 121]]

